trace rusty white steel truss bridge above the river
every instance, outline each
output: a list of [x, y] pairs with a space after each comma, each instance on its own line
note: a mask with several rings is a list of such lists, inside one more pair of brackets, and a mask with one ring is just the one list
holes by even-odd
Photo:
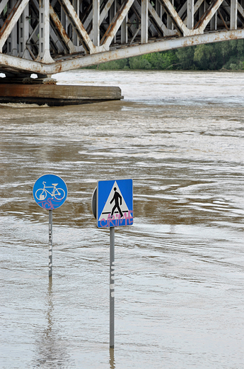
[[54, 73], [244, 38], [244, 0], [0, 0], [0, 72]]

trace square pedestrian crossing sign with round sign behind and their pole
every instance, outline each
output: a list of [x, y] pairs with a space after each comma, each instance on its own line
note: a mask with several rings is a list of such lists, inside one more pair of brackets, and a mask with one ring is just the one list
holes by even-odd
[[115, 227], [133, 224], [132, 180], [98, 181], [91, 199], [98, 228], [110, 228], [110, 348], [115, 347]]

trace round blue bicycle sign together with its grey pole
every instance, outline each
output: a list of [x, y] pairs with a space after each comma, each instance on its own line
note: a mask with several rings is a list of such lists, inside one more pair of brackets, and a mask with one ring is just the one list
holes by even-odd
[[49, 211], [49, 263], [48, 274], [52, 277], [52, 210], [64, 204], [68, 189], [57, 175], [42, 175], [33, 186], [33, 197], [37, 205]]

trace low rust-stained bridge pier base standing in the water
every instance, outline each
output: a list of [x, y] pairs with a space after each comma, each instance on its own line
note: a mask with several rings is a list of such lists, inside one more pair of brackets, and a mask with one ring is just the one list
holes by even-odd
[[6, 73], [0, 79], [0, 104], [24, 103], [48, 106], [91, 104], [123, 99], [120, 87], [57, 85], [51, 75]]

